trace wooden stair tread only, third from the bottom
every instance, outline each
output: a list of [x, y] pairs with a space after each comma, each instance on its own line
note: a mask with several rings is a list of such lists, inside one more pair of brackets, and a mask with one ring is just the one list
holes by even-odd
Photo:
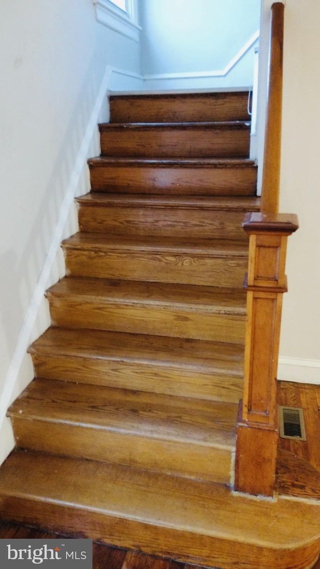
[[243, 346], [127, 332], [49, 328], [29, 348], [69, 357], [159, 364], [243, 377]]

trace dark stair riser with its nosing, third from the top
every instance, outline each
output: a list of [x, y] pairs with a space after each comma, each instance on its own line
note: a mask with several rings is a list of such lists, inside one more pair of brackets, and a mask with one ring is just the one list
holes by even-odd
[[245, 159], [88, 160], [93, 191], [255, 196], [257, 167]]

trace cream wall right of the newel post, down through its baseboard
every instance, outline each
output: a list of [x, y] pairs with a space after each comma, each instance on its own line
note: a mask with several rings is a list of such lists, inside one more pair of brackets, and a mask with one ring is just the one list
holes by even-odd
[[282, 121], [282, 212], [297, 213], [289, 238], [289, 292], [278, 378], [320, 383], [320, 2], [286, 0]]

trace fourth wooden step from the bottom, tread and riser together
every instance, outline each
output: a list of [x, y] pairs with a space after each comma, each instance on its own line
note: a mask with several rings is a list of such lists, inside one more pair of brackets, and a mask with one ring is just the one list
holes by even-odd
[[245, 295], [233, 288], [68, 277], [47, 298], [60, 327], [244, 343]]

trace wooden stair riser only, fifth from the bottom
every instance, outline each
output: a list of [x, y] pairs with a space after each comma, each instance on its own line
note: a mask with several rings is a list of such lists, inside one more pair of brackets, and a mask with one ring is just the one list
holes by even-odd
[[65, 264], [67, 274], [75, 277], [241, 287], [248, 259], [66, 249]]

